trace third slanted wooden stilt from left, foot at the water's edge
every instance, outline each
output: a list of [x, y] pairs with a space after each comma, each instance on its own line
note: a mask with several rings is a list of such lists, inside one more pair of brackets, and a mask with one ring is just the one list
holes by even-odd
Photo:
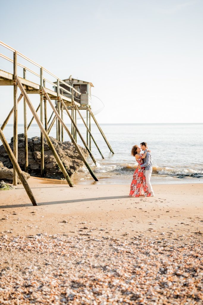
[[[58, 117], [58, 120], [60, 120], [61, 124], [63, 125], [63, 127], [64, 127], [64, 129], [65, 129], [65, 131], [68, 133], [69, 137], [71, 138], [71, 140], [72, 140], [73, 144], [75, 145], [75, 148], [77, 149], [77, 152], [79, 153], [79, 155], [80, 155], [82, 161], [85, 163], [87, 169], [89, 170], [89, 173], [91, 174], [91, 176], [94, 178], [95, 181], [98, 181], [98, 179], [96, 178], [96, 175], [94, 174], [93, 170], [91, 169], [91, 167], [90, 167], [89, 164], [87, 163], [87, 161], [86, 161], [86, 159], [85, 159], [85, 157], [84, 157], [82, 151], [80, 150], [78, 144], [75, 142], [74, 138], [72, 137], [72, 135], [71, 135], [70, 131], [68, 130], [67, 126], [65, 125], [64, 121], [62, 121], [62, 120], [61, 120], [61, 117], [58, 115], [58, 112], [57, 112], [57, 110], [54, 108], [54, 105], [52, 104], [51, 99], [49, 99], [49, 96], [47, 95], [46, 90], [45, 90], [44, 88], [43, 88], [43, 90], [44, 90], [44, 94], [45, 94], [46, 97], [47, 97], [48, 102], [49, 102], [50, 105], [51, 105], [51, 108], [53, 109], [55, 115]], [[68, 109], [66, 108], [65, 103], [64, 103], [63, 100], [61, 100], [61, 103], [62, 103], [62, 105], [64, 106], [64, 109], [66, 110], [67, 114], [70, 116], [70, 113], [68, 112]], [[81, 140], [82, 140], [82, 138], [81, 138]], [[83, 141], [84, 141], [84, 140], [83, 140]]]

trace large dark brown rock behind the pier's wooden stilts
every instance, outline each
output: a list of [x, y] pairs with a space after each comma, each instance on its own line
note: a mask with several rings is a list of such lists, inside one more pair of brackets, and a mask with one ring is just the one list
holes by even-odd
[[[56, 149], [63, 165], [65, 166], [69, 176], [71, 177], [77, 170], [84, 165], [82, 159], [80, 158], [75, 146], [72, 142], [60, 142], [56, 139], [50, 137], [54, 148]], [[13, 138], [11, 138], [11, 143], [9, 143], [13, 151]], [[79, 146], [83, 155], [87, 157], [89, 153], [87, 150]], [[31, 176], [40, 177], [40, 164], [41, 164], [41, 148], [40, 148], [40, 137], [28, 138], [28, 172]], [[25, 169], [24, 165], [24, 134], [18, 135], [18, 163], [22, 170]], [[8, 169], [12, 168], [12, 163], [7, 155], [3, 145], [0, 146], [0, 161]], [[44, 177], [63, 179], [64, 176], [56, 162], [47, 141], [44, 139]]]

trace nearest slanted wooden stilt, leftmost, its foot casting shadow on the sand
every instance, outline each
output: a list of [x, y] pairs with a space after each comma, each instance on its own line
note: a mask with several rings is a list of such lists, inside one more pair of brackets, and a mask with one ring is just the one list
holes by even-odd
[[32, 193], [32, 191], [31, 191], [31, 189], [30, 189], [30, 187], [29, 187], [29, 185], [28, 185], [28, 183], [27, 183], [27, 181], [26, 181], [26, 179], [25, 179], [25, 177], [24, 177], [24, 175], [22, 173], [21, 168], [19, 167], [19, 164], [18, 164], [18, 162], [17, 162], [17, 160], [16, 160], [16, 158], [15, 158], [15, 156], [14, 156], [14, 154], [13, 154], [13, 152], [12, 152], [12, 150], [11, 150], [9, 144], [8, 144], [8, 142], [5, 139], [5, 136], [4, 136], [3, 131], [2, 131], [1, 128], [0, 128], [0, 139], [1, 139], [2, 143], [3, 143], [3, 145], [4, 145], [4, 148], [5, 148], [6, 152], [7, 152], [7, 154], [9, 155], [9, 158], [10, 158], [12, 164], [13, 164], [13, 169], [15, 168], [16, 173], [19, 176], [20, 181], [22, 182], [22, 184], [23, 184], [23, 186], [24, 186], [24, 188], [26, 190], [26, 193], [27, 193], [28, 197], [30, 198], [33, 206], [37, 206], [37, 202], [36, 202], [36, 200], [35, 200], [35, 198], [33, 196], [33, 193]]

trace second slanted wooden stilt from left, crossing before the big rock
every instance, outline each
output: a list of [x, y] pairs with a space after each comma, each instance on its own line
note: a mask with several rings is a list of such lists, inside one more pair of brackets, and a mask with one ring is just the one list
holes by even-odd
[[[58, 153], [56, 152], [56, 150], [54, 148], [54, 145], [51, 143], [51, 140], [50, 140], [49, 136], [47, 135], [47, 132], [45, 131], [44, 126], [42, 125], [42, 123], [41, 123], [41, 121], [40, 121], [40, 119], [39, 119], [35, 109], [33, 108], [33, 105], [31, 103], [31, 101], [30, 101], [30, 99], [29, 99], [25, 89], [23, 88], [23, 85], [22, 85], [21, 81], [19, 80], [18, 77], [16, 77], [16, 79], [17, 79], [17, 84], [18, 84], [18, 86], [20, 88], [20, 91], [22, 92], [23, 96], [25, 97], [26, 103], [28, 104], [28, 106], [29, 106], [33, 116], [35, 117], [35, 120], [36, 120], [38, 126], [40, 127], [41, 132], [43, 133], [44, 137], [46, 138], [47, 143], [49, 145], [49, 148], [51, 149], [51, 151], [52, 151], [52, 153], [53, 153], [53, 155], [54, 155], [54, 157], [55, 157], [55, 159], [56, 159], [56, 161], [58, 163], [58, 166], [60, 167], [60, 169], [61, 169], [61, 171], [62, 171], [66, 181], [68, 182], [69, 186], [73, 187], [73, 184], [72, 184], [72, 182], [70, 180], [70, 177], [68, 176], [68, 173], [67, 173], [63, 163], [61, 162], [61, 159], [59, 158]], [[48, 96], [48, 98], [49, 98], [49, 96]], [[55, 108], [53, 110], [56, 111]], [[57, 113], [57, 111], [56, 111], [56, 113]]]

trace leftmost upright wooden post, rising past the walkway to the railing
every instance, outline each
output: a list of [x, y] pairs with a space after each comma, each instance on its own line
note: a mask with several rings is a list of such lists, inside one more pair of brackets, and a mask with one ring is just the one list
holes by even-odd
[[[13, 79], [17, 77], [17, 52], [13, 53]], [[18, 86], [13, 86], [13, 154], [18, 161], [18, 97], [17, 97]], [[16, 169], [13, 168], [13, 185], [17, 185], [18, 175]]]

